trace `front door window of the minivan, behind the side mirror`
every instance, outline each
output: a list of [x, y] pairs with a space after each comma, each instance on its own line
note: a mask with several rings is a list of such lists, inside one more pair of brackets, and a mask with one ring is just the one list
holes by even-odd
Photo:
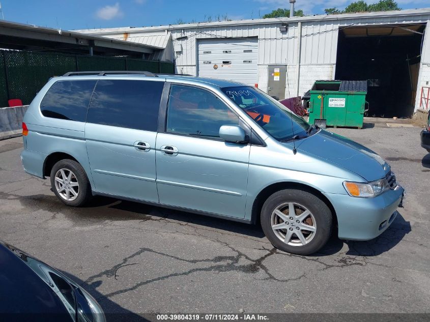
[[172, 85], [167, 107], [167, 132], [219, 138], [222, 125], [239, 118], [212, 93], [196, 87]]

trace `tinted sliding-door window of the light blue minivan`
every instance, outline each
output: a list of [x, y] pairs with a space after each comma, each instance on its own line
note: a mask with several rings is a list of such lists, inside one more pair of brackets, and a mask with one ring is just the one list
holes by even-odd
[[162, 81], [99, 80], [87, 122], [155, 132], [163, 86]]

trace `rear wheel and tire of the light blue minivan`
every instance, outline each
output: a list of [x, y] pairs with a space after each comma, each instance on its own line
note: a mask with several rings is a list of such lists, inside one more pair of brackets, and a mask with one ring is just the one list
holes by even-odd
[[52, 191], [67, 206], [84, 206], [92, 197], [87, 174], [74, 160], [64, 159], [55, 163], [51, 170], [50, 180]]

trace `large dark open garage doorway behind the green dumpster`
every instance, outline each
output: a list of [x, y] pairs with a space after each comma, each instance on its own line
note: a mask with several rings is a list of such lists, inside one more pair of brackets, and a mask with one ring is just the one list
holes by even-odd
[[367, 80], [367, 116], [411, 118], [425, 24], [339, 30], [335, 79]]

